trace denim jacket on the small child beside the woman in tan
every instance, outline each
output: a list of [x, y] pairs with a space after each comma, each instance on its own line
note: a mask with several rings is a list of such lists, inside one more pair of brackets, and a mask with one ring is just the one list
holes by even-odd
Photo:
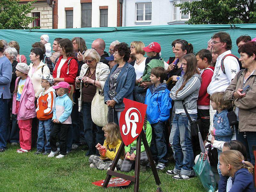
[[228, 110], [225, 109], [218, 113], [214, 114], [213, 117], [213, 127], [215, 128], [215, 139], [217, 141], [230, 141], [233, 134], [233, 129], [229, 125], [228, 117], [227, 117]]

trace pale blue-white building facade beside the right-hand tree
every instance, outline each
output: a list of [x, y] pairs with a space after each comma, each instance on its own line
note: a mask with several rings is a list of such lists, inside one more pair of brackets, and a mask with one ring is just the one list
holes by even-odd
[[123, 0], [123, 26], [185, 24], [189, 14], [176, 4], [192, 0]]

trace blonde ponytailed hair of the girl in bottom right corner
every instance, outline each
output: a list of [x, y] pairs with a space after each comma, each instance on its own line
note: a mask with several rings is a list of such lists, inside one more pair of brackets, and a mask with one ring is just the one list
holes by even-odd
[[223, 162], [228, 165], [232, 165], [235, 170], [245, 168], [248, 169], [250, 173], [253, 173], [253, 165], [249, 161], [244, 161], [244, 156], [240, 151], [237, 150], [227, 150], [220, 154]]

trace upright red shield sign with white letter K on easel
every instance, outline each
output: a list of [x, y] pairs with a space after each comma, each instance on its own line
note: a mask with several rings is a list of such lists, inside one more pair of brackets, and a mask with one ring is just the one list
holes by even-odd
[[142, 130], [147, 105], [124, 98], [124, 111], [121, 113], [119, 127], [124, 145], [131, 144]]

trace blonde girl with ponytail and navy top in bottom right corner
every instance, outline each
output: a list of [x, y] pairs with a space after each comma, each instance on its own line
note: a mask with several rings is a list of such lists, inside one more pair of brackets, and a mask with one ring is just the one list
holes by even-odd
[[244, 161], [240, 151], [227, 150], [220, 154], [220, 171], [223, 176], [232, 177], [229, 192], [254, 192], [253, 165]]

